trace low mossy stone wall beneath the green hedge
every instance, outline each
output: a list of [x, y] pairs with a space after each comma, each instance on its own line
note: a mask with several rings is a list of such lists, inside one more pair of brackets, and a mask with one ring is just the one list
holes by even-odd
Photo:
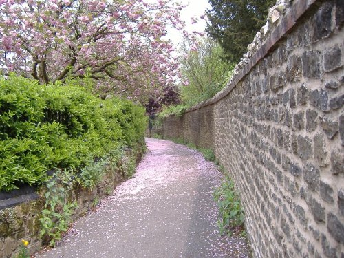
[[[116, 186], [126, 178], [125, 171], [130, 160], [136, 161], [138, 164], [144, 146], [138, 146], [132, 150], [127, 150], [118, 163], [115, 171], [107, 167], [103, 180], [93, 189], [82, 189], [78, 184], [74, 184], [73, 191], [69, 193], [71, 202], [77, 202], [77, 208], [74, 211], [72, 220], [75, 221], [78, 217], [87, 214], [92, 208], [101, 202], [101, 199], [110, 195]], [[30, 193], [27, 195], [20, 195], [13, 199], [21, 199], [25, 202], [12, 204], [12, 200], [1, 200], [0, 204], [8, 204], [8, 208], [0, 209], [0, 258], [15, 257], [21, 240], [29, 241], [28, 250], [32, 254], [39, 250], [43, 245], [39, 232], [41, 230], [41, 213], [44, 208], [45, 189], [41, 188], [37, 193]]]

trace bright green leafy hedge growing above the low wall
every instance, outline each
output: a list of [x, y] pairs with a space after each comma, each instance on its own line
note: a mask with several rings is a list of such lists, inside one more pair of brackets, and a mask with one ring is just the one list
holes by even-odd
[[100, 100], [76, 85], [0, 78], [0, 190], [41, 184], [47, 170], [78, 168], [143, 138], [144, 108]]

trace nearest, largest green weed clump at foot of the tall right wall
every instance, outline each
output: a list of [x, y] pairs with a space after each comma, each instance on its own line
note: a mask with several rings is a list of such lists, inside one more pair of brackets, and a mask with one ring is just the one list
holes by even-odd
[[244, 232], [244, 210], [234, 183], [228, 176], [225, 176], [221, 186], [215, 189], [213, 197], [219, 207], [217, 225], [220, 233], [233, 235], [235, 230]]

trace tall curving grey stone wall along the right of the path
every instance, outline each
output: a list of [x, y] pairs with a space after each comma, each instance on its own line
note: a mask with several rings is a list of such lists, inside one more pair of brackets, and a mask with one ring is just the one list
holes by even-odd
[[164, 119], [233, 177], [254, 257], [344, 257], [343, 21], [343, 0], [294, 1], [223, 92]]

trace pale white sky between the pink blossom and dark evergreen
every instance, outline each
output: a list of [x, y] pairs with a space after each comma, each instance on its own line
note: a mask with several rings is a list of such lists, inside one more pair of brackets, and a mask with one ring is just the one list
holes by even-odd
[[[200, 16], [204, 14], [206, 9], [210, 8], [208, 0], [179, 0], [179, 2], [184, 5], [189, 3], [189, 6], [184, 8], [181, 12], [181, 19], [186, 23], [186, 30], [188, 32], [204, 32], [206, 21], [200, 19]], [[191, 17], [196, 17], [197, 23], [192, 24]], [[167, 38], [171, 39], [172, 42], [177, 45], [182, 41], [182, 32], [174, 28], [169, 28]]]

